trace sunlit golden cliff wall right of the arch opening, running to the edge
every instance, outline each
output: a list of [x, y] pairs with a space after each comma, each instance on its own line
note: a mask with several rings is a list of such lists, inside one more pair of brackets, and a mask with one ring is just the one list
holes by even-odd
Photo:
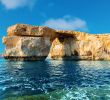
[[[110, 60], [110, 35], [93, 35], [83, 32], [58, 31], [73, 37], [56, 38], [51, 47], [53, 59]], [[59, 52], [57, 52], [59, 51]]]

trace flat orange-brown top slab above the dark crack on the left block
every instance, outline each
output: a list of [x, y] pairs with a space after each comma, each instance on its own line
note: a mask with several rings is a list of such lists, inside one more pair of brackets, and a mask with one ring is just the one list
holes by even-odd
[[16, 24], [8, 28], [8, 36], [54, 37], [55, 30], [44, 26]]

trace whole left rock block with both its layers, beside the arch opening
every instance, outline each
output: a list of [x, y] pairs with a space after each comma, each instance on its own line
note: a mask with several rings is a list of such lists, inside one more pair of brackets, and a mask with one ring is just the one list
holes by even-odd
[[4, 57], [11, 60], [43, 60], [51, 47], [55, 31], [48, 27], [17, 24], [3, 37], [6, 46]]

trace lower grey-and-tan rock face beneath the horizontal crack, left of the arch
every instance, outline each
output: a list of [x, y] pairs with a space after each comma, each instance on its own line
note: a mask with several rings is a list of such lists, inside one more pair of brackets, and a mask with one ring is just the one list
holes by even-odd
[[4, 37], [5, 57], [9, 59], [39, 60], [47, 57], [50, 51], [48, 37]]

